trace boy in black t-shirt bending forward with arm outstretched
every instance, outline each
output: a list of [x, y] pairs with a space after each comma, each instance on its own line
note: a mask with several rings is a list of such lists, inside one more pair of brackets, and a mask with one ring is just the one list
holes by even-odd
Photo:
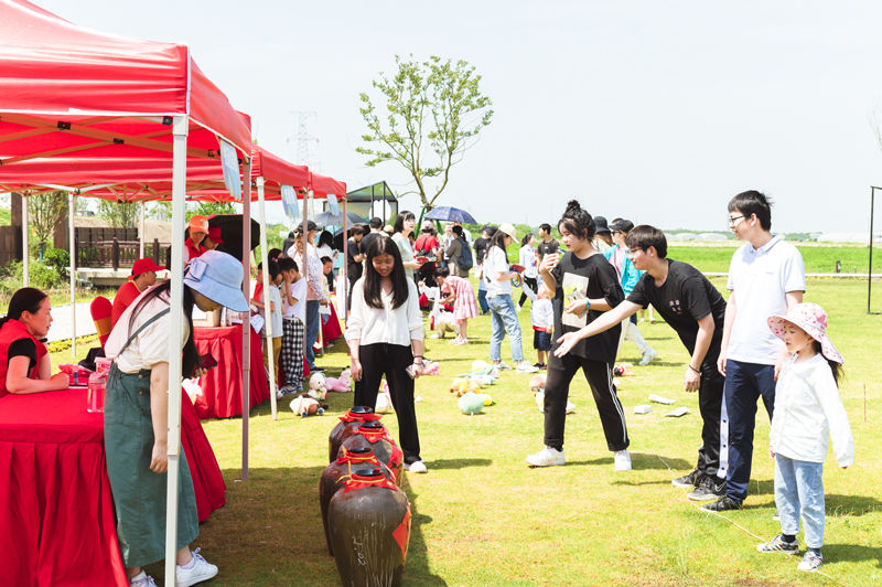
[[616, 327], [641, 308], [653, 305], [665, 321], [677, 332], [690, 353], [684, 374], [684, 388], [698, 391], [698, 405], [703, 426], [702, 446], [698, 449], [696, 469], [673, 483], [695, 487], [689, 499], [716, 500], [725, 494], [725, 481], [717, 477], [720, 466], [720, 409], [724, 378], [717, 370], [723, 333], [725, 301], [713, 285], [698, 269], [686, 263], [665, 258], [667, 239], [658, 228], [637, 226], [627, 235], [628, 257], [634, 267], [646, 271], [627, 299], [604, 312], [578, 332], [568, 332], [558, 339], [555, 354], [567, 354], [578, 348], [583, 339], [594, 337]]

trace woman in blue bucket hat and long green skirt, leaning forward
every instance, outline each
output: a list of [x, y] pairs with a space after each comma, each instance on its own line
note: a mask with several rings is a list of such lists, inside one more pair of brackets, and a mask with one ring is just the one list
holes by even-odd
[[[104, 438], [107, 473], [117, 510], [117, 534], [130, 585], [154, 585], [141, 566], [165, 555], [165, 472], [168, 470], [169, 346], [180, 337], [183, 377], [201, 370], [193, 342], [193, 306], [209, 312], [226, 306], [247, 312], [241, 294], [241, 263], [226, 253], [207, 250], [192, 259], [184, 274], [184, 321], [172, 333], [171, 282], [147, 290], [126, 309], [105, 353], [114, 360], [107, 380]], [[217, 567], [189, 544], [198, 535], [193, 480], [183, 450], [178, 470], [176, 585], [207, 580]]]

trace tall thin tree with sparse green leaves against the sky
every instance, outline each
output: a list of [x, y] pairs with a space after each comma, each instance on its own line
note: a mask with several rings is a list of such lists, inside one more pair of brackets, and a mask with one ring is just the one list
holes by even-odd
[[490, 125], [493, 103], [482, 95], [481, 76], [465, 61], [431, 56], [419, 63], [412, 55], [396, 55], [395, 63], [394, 75], [380, 73], [373, 82], [384, 111], [367, 93], [359, 95], [367, 132], [356, 151], [368, 158], [367, 167], [401, 164], [415, 183], [401, 195], [417, 194], [423, 210], [431, 210], [448, 185], [450, 168]]

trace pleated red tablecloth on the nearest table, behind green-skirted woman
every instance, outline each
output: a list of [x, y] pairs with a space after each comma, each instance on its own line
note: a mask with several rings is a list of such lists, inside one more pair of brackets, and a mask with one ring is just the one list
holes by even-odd
[[[202, 522], [226, 485], [186, 394], [181, 423]], [[0, 585], [128, 585], [104, 415], [86, 412], [85, 389], [0, 398]]]

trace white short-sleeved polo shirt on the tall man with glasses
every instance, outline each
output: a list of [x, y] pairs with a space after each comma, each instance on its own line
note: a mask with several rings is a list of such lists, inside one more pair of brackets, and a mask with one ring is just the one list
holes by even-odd
[[745, 243], [732, 255], [725, 287], [735, 292], [736, 308], [725, 357], [774, 365], [783, 342], [768, 329], [767, 320], [787, 313], [787, 292], [806, 290], [799, 250], [778, 236], [760, 248]]

